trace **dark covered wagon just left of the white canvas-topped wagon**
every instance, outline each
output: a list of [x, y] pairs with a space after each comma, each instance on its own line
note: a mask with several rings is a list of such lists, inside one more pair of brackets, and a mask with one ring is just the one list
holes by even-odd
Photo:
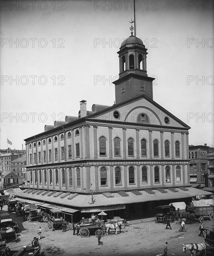
[[166, 224], [167, 219], [169, 219], [170, 222], [174, 222], [175, 216], [170, 205], [155, 207], [155, 213], [154, 221], [156, 223], [163, 222]]

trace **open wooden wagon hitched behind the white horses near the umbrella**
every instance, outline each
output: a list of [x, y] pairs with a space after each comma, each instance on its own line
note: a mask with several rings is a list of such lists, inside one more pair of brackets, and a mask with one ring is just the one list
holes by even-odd
[[105, 228], [103, 220], [96, 220], [95, 223], [92, 223], [88, 222], [88, 219], [84, 219], [84, 222], [81, 222], [80, 224], [81, 237], [87, 237], [92, 234], [95, 234], [95, 236], [97, 236], [99, 232], [102, 232], [102, 234], [104, 235]]

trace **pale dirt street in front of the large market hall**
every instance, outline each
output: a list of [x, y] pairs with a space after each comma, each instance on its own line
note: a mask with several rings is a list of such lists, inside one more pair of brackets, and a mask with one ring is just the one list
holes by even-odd
[[[7, 212], [7, 206], [4, 206], [2, 212]], [[172, 230], [166, 230], [166, 225], [163, 223], [131, 224], [122, 229], [121, 234], [117, 236], [111, 233], [109, 236], [102, 237], [103, 245], [98, 245], [95, 236], [87, 238], [73, 236], [73, 230], [67, 230], [65, 233], [61, 230], [51, 231], [47, 229], [45, 222], [23, 222], [22, 216], [16, 216], [15, 213], [11, 213], [11, 216], [20, 226], [18, 234], [20, 241], [8, 243], [13, 255], [24, 245], [31, 244], [34, 236], [38, 237], [37, 231], [40, 226], [42, 229], [41, 251], [44, 251], [46, 256], [156, 256], [163, 253], [166, 241], [168, 256], [184, 256], [182, 243], [204, 242], [204, 238], [198, 236], [199, 223], [186, 225], [186, 233], [178, 232], [180, 224], [176, 222], [171, 223]], [[210, 220], [204, 222], [205, 226], [211, 223]], [[190, 255], [189, 251], [187, 255]]]

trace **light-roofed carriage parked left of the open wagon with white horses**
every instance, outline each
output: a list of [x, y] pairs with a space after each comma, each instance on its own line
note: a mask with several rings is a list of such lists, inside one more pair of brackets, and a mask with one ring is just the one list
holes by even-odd
[[59, 230], [63, 226], [63, 212], [59, 209], [50, 209], [51, 216], [48, 218], [48, 229]]

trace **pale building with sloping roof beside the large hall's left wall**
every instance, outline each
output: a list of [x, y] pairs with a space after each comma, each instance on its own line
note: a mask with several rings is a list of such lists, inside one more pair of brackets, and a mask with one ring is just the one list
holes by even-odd
[[19, 158], [16, 158], [11, 162], [11, 171], [20, 177], [19, 182], [21, 182], [21, 180], [27, 179], [25, 170], [26, 170], [26, 154], [22, 155]]

